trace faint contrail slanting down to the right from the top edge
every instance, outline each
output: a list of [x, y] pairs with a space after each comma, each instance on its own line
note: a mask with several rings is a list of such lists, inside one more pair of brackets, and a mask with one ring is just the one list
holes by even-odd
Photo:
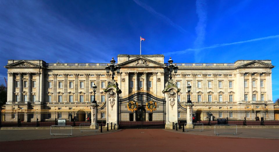
[[178, 29], [180, 32], [182, 33], [187, 33], [187, 31], [182, 28], [181, 26], [175, 24], [174, 22], [171, 21], [171, 19], [169, 19], [168, 17], [166, 17], [165, 15], [155, 11], [151, 6], [146, 5], [145, 3], [142, 3], [141, 1], [138, 0], [133, 0], [137, 5], [139, 5], [140, 7], [144, 8], [145, 10], [147, 10], [148, 12], [150, 12], [151, 14], [161, 18], [162, 20], [164, 20], [165, 22], [167, 22], [168, 24], [170, 24], [171, 26], [173, 26], [174, 28]]

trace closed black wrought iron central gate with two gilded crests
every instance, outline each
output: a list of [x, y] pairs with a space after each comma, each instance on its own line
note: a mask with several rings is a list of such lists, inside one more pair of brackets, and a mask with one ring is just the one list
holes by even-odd
[[164, 128], [164, 97], [151, 92], [138, 91], [128, 96], [119, 97], [119, 128]]

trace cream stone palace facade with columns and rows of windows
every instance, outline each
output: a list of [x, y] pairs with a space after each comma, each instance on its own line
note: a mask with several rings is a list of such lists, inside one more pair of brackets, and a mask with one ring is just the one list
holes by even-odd
[[[175, 59], [174, 59], [175, 60]], [[175, 62], [174, 62], [175, 63]], [[121, 67], [115, 80], [119, 96], [147, 91], [164, 96], [169, 80], [164, 55], [118, 55]], [[190, 98], [199, 108], [269, 108], [272, 101], [271, 60], [237, 60], [234, 63], [177, 63], [172, 79], [180, 89], [177, 101]], [[8, 97], [5, 109], [90, 109], [96, 85], [96, 101], [108, 100], [107, 63], [47, 63], [43, 60], [8, 60]]]

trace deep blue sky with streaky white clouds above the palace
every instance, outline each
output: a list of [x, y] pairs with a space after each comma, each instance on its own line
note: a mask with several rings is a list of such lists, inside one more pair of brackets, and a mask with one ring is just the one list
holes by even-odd
[[[0, 83], [8, 59], [109, 62], [164, 54], [177, 63], [272, 60], [279, 65], [279, 1], [0, 0]], [[279, 98], [272, 69], [273, 100]]]

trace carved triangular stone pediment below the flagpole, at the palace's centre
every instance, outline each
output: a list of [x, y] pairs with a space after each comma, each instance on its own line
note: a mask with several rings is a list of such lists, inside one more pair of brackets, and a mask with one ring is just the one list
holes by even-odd
[[123, 67], [158, 67], [164, 66], [164, 64], [144, 58], [142, 56], [134, 58], [132, 60], [120, 63], [119, 66]]

